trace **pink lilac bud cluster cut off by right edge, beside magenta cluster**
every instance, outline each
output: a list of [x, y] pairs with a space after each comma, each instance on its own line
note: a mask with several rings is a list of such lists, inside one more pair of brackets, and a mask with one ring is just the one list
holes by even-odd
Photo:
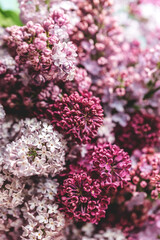
[[144, 191], [145, 189], [145, 192], [151, 198], [157, 199], [160, 193], [159, 152], [156, 152], [153, 148], [144, 148], [137, 165], [132, 168], [130, 175], [132, 178], [132, 188], [134, 187], [137, 191]]

